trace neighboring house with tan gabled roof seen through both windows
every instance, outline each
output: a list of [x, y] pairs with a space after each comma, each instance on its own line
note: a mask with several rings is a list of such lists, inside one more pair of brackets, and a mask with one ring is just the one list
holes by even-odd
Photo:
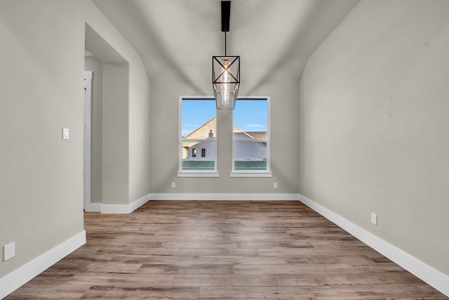
[[[205, 124], [182, 138], [182, 160], [215, 160], [215, 130], [217, 119]], [[234, 126], [234, 140], [267, 139], [266, 131], [246, 132]], [[204, 141], [192, 141], [204, 140]], [[237, 161], [266, 161], [267, 143], [236, 143], [234, 159]]]

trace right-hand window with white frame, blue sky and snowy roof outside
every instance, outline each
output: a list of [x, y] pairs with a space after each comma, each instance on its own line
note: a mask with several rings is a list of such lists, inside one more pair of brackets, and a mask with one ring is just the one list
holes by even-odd
[[239, 98], [234, 108], [231, 176], [272, 176], [269, 167], [269, 98]]

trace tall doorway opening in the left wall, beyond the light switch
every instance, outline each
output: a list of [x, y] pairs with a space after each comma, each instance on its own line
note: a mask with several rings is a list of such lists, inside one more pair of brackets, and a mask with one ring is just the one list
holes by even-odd
[[129, 64], [87, 23], [84, 70], [83, 206], [101, 211], [128, 198]]

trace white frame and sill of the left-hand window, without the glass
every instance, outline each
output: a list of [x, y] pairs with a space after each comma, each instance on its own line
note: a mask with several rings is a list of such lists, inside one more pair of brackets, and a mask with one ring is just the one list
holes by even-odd
[[[215, 143], [215, 163], [214, 163], [214, 169], [213, 170], [182, 170], [182, 142], [186, 140], [182, 140], [182, 123], [181, 123], [181, 117], [182, 117], [182, 100], [214, 100], [214, 96], [180, 96], [179, 98], [179, 107], [178, 107], [178, 122], [179, 122], [179, 145], [178, 145], [178, 171], [176, 173], [177, 177], [219, 177], [219, 173], [217, 171], [217, 134], [215, 133], [215, 142], [208, 142], [208, 143]], [[217, 117], [217, 113], [215, 111], [215, 117]], [[215, 132], [217, 129], [215, 129]], [[204, 140], [188, 140], [189, 142], [199, 142], [203, 143]], [[198, 155], [198, 150], [196, 151], [196, 155]]]

